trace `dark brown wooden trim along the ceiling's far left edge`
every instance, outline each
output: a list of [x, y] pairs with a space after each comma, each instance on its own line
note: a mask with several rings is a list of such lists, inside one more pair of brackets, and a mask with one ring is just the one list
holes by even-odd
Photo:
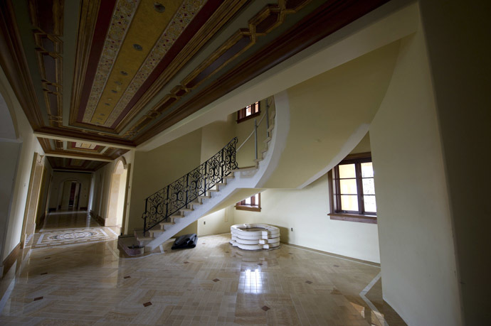
[[29, 124], [33, 129], [43, 126], [43, 117], [31, 73], [28, 70], [11, 0], [0, 1], [0, 48], [2, 49], [0, 50], [0, 65], [9, 84], [14, 89]]

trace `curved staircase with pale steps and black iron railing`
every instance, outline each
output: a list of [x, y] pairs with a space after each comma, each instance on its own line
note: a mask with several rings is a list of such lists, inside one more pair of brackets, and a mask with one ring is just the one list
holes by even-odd
[[[199, 165], [191, 172], [167, 185], [167, 187], [147, 197], [145, 212], [142, 214], [144, 227], [134, 231], [134, 236], [145, 251], [153, 251], [179, 231], [187, 227], [213, 207], [226, 199], [238, 188], [255, 188], [257, 178], [253, 178], [265, 170], [267, 163], [263, 159], [268, 156], [268, 147], [273, 139], [275, 112], [268, 112], [257, 123], [254, 130], [244, 143], [254, 135], [255, 165], [238, 168], [236, 163], [237, 138], [233, 138], [208, 161]], [[258, 156], [258, 126], [265, 119], [267, 138], [265, 148]]]

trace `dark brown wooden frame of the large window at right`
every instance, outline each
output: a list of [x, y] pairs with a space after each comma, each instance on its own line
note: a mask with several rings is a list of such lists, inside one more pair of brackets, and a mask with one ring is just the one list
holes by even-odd
[[[363, 185], [361, 182], [361, 163], [367, 162], [371, 162], [371, 153], [352, 154], [344, 158], [343, 161], [341, 161], [338, 165], [336, 165], [332, 170], [329, 171], [329, 207], [331, 212], [327, 215], [329, 215], [330, 219], [371, 224], [377, 223], [376, 212], [364, 211], [364, 193]], [[357, 180], [357, 198], [359, 209], [358, 212], [341, 210], [341, 194], [339, 194], [339, 165], [343, 164], [354, 164], [355, 166], [355, 179]], [[336, 182], [334, 183], [334, 181]], [[336, 187], [336, 189], [334, 189], [334, 187]]]

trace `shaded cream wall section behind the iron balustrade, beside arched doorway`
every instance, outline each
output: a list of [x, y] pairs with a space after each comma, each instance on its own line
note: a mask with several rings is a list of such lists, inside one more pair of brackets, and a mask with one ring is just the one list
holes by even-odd
[[[132, 176], [129, 233], [142, 229], [145, 199], [201, 163], [201, 130], [152, 151], [137, 151]], [[196, 233], [196, 232], [193, 232]]]

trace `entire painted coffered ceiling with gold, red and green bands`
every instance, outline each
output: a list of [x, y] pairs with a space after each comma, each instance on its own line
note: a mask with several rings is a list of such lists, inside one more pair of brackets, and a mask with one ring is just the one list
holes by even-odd
[[52, 163], [94, 170], [384, 2], [0, 0], [0, 63]]

